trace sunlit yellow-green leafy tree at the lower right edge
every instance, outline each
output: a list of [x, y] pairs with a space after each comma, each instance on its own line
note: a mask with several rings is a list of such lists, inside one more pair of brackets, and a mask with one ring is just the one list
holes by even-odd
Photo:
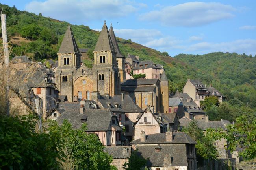
[[236, 119], [236, 124], [231, 124], [228, 129], [229, 149], [236, 150], [237, 147], [243, 148], [239, 156], [245, 159], [256, 157], [256, 118], [240, 116]]

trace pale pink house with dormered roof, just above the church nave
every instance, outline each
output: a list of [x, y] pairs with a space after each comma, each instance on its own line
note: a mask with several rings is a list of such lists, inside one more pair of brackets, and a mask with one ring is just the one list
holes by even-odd
[[160, 64], [155, 64], [154, 62], [141, 61], [137, 66], [133, 67], [133, 74], [145, 74], [146, 79], [159, 79], [160, 73], [162, 73], [163, 68]]

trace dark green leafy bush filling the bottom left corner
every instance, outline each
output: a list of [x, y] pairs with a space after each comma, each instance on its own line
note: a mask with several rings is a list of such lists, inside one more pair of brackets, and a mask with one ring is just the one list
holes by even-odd
[[0, 116], [0, 169], [59, 170], [65, 159], [61, 133], [37, 133], [38, 117]]

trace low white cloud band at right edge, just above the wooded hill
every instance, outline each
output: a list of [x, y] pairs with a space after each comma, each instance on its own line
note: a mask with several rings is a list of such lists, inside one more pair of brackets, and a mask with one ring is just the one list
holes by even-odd
[[256, 39], [239, 39], [230, 42], [200, 42], [192, 44], [186, 48], [186, 51], [199, 51], [201, 53], [209, 53], [215, 51], [236, 52], [246, 54], [256, 54]]

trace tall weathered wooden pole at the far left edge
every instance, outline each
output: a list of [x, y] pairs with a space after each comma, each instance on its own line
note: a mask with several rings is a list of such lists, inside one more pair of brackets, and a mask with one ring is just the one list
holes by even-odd
[[7, 41], [7, 31], [6, 31], [6, 14], [1, 12], [1, 28], [2, 28], [2, 39], [4, 47], [4, 64], [6, 65], [6, 114], [10, 115], [10, 101], [9, 101], [9, 51], [8, 51], [8, 41]]

